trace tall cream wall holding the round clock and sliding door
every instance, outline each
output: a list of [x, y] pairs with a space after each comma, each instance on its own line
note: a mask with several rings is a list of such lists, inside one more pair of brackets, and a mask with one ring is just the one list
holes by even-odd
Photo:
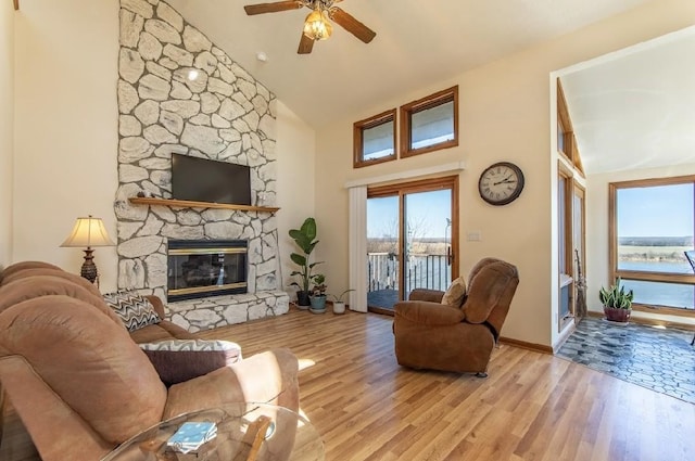
[[[502, 334], [552, 346], [557, 341], [552, 305], [557, 303], [557, 255], [553, 179], [556, 165], [551, 144], [551, 72], [619, 50], [695, 23], [695, 2], [662, 0], [508, 56], [498, 62], [432, 82], [399, 99], [375, 101], [326, 129], [317, 138], [316, 207], [324, 228], [318, 257], [326, 260], [329, 285], [348, 281], [349, 180], [378, 177], [431, 165], [464, 161], [460, 175], [460, 272], [468, 273], [484, 256], [519, 267], [520, 284]], [[459, 85], [459, 146], [367, 168], [352, 169], [352, 124], [397, 107], [452, 85]], [[498, 161], [518, 164], [526, 188], [513, 204], [493, 207], [478, 196], [482, 169]], [[589, 192], [590, 193], [590, 192]], [[466, 232], [481, 232], [467, 242]]]

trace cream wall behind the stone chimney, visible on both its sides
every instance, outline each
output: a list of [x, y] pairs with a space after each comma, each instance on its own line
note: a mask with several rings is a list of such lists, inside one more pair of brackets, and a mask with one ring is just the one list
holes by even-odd
[[[22, 3], [15, 28], [13, 260], [47, 260], [79, 272], [83, 252], [59, 245], [75, 218], [88, 214], [101, 217], [116, 238], [118, 5], [118, 0]], [[281, 103], [277, 131], [282, 243], [286, 226], [313, 212], [314, 188], [305, 178], [312, 178], [306, 165], [315, 150], [313, 130]], [[114, 290], [115, 247], [97, 248], [94, 255], [102, 292]]]

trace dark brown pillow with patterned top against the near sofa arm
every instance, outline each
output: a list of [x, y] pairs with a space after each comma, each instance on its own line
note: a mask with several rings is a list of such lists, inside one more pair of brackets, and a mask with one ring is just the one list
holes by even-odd
[[169, 340], [139, 346], [167, 386], [241, 360], [241, 347], [229, 341]]

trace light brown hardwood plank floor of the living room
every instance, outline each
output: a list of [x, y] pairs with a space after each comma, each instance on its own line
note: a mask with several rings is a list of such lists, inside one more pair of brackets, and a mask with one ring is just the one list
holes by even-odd
[[[289, 347], [328, 461], [695, 459], [693, 405], [507, 345], [488, 379], [408, 370], [395, 361], [391, 323], [292, 310], [200, 336], [235, 341], [245, 357]], [[4, 435], [0, 460], [30, 459], [8, 457]]]

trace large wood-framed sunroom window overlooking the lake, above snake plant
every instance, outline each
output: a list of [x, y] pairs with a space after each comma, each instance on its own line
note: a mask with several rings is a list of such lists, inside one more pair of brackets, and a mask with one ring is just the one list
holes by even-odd
[[635, 307], [695, 313], [695, 176], [611, 183], [609, 207], [612, 276]]

